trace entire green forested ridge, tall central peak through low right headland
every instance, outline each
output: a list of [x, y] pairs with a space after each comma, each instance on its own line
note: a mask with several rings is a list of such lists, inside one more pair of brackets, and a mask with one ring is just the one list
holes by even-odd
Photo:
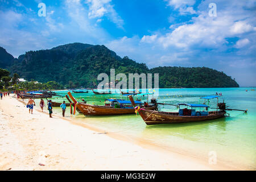
[[[0, 61], [2, 58], [0, 58]], [[0, 66], [1, 67], [1, 66]], [[1, 67], [2, 68], [2, 67]], [[238, 87], [225, 73], [210, 68], [158, 67], [148, 69], [125, 56], [116, 55], [105, 46], [73, 43], [52, 49], [29, 51], [7, 67], [26, 80], [57, 81], [68, 88], [97, 84], [100, 73], [159, 73], [160, 88]], [[127, 76], [128, 77], [128, 76]]]

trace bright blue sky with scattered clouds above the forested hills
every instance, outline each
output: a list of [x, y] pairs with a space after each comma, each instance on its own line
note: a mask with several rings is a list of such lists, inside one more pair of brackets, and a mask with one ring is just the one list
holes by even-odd
[[[38, 16], [38, 4], [46, 16]], [[215, 3], [217, 16], [209, 16]], [[256, 0], [0, 0], [0, 46], [104, 44], [149, 68], [209, 67], [256, 86]]]

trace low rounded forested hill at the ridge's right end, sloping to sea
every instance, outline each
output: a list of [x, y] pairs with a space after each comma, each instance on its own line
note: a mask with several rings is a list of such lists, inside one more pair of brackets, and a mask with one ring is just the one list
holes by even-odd
[[205, 67], [158, 67], [150, 69], [150, 72], [159, 73], [160, 88], [239, 87], [225, 73]]

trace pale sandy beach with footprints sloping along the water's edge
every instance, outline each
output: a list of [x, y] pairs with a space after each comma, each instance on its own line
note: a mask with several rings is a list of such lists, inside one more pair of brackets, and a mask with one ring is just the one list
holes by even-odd
[[71, 119], [29, 114], [13, 95], [0, 100], [0, 170], [226, 170], [220, 164], [135, 144]]

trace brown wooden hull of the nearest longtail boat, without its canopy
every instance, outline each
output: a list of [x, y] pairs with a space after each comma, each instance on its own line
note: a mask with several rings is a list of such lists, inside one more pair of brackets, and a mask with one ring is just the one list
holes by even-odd
[[209, 115], [192, 116], [192, 115], [179, 115], [179, 113], [170, 113], [162, 111], [152, 111], [148, 109], [141, 109], [138, 111], [143, 121], [147, 125], [158, 125], [167, 123], [187, 123], [196, 121], [205, 121], [210, 119], [217, 119], [225, 117], [225, 111], [212, 111]]

